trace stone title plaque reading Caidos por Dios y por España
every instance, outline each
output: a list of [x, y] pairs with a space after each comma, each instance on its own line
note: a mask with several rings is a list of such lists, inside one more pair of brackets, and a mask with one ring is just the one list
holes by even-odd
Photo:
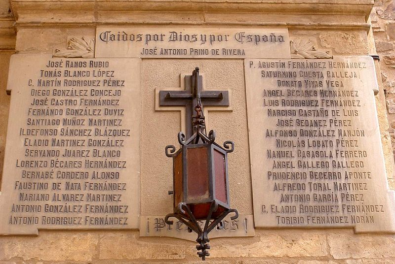
[[287, 28], [96, 29], [96, 58], [290, 58]]

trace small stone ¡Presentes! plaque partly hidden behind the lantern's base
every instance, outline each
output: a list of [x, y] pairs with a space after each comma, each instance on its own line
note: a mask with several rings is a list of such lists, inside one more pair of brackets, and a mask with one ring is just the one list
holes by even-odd
[[[209, 233], [209, 238], [227, 236], [254, 236], [254, 218], [252, 215], [239, 215], [231, 220], [230, 215], [222, 220], [223, 228], [214, 228]], [[164, 216], [142, 216], [140, 218], [140, 236], [167, 236], [196, 241], [197, 234], [188, 232], [188, 228], [176, 218], [170, 218], [173, 225], [164, 222]], [[204, 228], [204, 221], [200, 221], [200, 227]]]

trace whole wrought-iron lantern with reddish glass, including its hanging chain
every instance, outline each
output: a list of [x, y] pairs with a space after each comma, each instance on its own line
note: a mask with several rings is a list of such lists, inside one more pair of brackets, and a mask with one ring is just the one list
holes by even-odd
[[[165, 148], [167, 157], [173, 158], [173, 213], [167, 214], [165, 222], [172, 225], [170, 217], [177, 218], [197, 233], [197, 254], [202, 260], [209, 256], [208, 233], [214, 228], [221, 229], [222, 220], [231, 212], [235, 220], [236, 209], [230, 208], [228, 153], [234, 151], [233, 141], [225, 141], [223, 147], [215, 142], [215, 132], [206, 133], [203, 109], [200, 100], [199, 68], [192, 73], [192, 99], [195, 113], [192, 116], [194, 134], [186, 139], [178, 133], [181, 148], [173, 145]], [[202, 229], [198, 223], [205, 220]], [[200, 252], [199, 252], [200, 251]]]

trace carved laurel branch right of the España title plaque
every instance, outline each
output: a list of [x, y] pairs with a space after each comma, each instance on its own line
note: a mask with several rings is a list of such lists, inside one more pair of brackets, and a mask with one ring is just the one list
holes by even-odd
[[331, 59], [330, 51], [317, 50], [311, 39], [300, 37], [289, 41], [291, 47], [291, 59]]

